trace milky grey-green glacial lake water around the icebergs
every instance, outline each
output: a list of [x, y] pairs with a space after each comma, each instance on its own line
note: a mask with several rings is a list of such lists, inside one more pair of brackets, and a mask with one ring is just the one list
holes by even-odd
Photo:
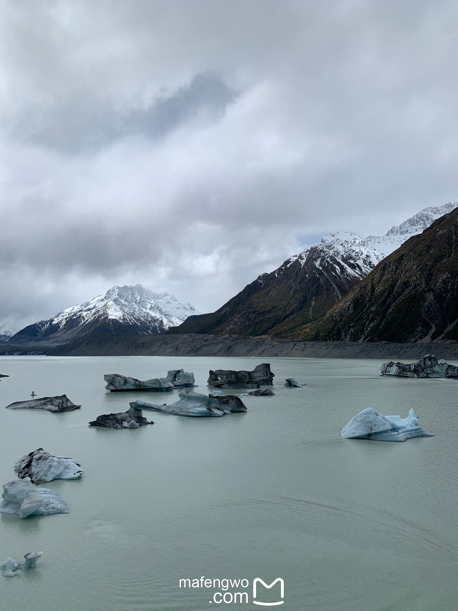
[[[244, 397], [247, 413], [145, 411], [154, 425], [108, 430], [87, 423], [136, 398], [172, 403], [178, 392], [108, 393], [104, 373], [148, 379], [183, 367], [208, 393], [210, 368], [252, 370], [263, 359], [1, 357], [10, 378], [0, 383], [0, 483], [38, 447], [85, 470], [82, 480], [41, 485], [70, 513], [0, 514], [0, 563], [45, 552], [35, 571], [0, 577], [1, 609], [200, 611], [246, 591], [248, 604], [216, 608], [259, 610], [256, 577], [284, 580], [284, 611], [457, 609], [458, 382], [382, 378], [381, 360], [264, 360], [276, 396]], [[280, 386], [290, 376], [308, 386]], [[66, 393], [82, 408], [4, 409], [32, 390]], [[402, 417], [413, 408], [435, 437], [341, 439], [366, 407]], [[201, 577], [212, 587], [179, 587]], [[214, 579], [249, 587], [224, 590]], [[280, 584], [258, 584], [256, 600], [280, 602]]]

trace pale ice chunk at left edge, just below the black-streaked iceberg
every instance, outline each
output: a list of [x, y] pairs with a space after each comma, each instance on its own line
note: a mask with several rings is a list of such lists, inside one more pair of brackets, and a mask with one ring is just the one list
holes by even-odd
[[0, 513], [16, 513], [20, 518], [68, 513], [64, 501], [49, 488], [35, 488], [29, 477], [3, 485]]

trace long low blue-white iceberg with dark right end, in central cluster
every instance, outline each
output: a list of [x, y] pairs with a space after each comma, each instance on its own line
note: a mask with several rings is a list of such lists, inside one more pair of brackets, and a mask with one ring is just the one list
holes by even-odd
[[245, 412], [247, 408], [242, 403], [240, 397], [234, 395], [201, 395], [197, 392], [182, 390], [178, 395], [179, 401], [170, 405], [154, 405], [144, 403], [144, 401], [134, 401], [131, 408], [152, 409], [162, 414], [173, 414], [179, 416], [222, 416], [234, 412]]

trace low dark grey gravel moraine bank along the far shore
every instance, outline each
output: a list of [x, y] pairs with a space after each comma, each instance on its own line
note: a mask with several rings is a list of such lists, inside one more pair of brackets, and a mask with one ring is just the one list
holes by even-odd
[[[0, 349], [0, 354], [11, 353], [12, 348], [13, 346], [8, 346], [7, 349]], [[27, 346], [16, 346], [15, 353], [29, 354]], [[42, 354], [49, 356], [254, 356], [418, 360], [426, 353], [437, 354], [442, 359], [458, 359], [458, 342], [302, 342], [229, 335], [88, 334], [68, 344], [42, 348]]]

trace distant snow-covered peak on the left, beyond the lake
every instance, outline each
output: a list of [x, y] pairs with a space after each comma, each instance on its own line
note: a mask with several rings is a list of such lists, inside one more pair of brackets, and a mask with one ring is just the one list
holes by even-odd
[[21, 329], [10, 337], [9, 343], [57, 345], [90, 331], [114, 335], [163, 333], [170, 326], [182, 323], [187, 316], [199, 313], [191, 304], [181, 303], [169, 293], [153, 293], [141, 284], [113, 287], [105, 295]]

